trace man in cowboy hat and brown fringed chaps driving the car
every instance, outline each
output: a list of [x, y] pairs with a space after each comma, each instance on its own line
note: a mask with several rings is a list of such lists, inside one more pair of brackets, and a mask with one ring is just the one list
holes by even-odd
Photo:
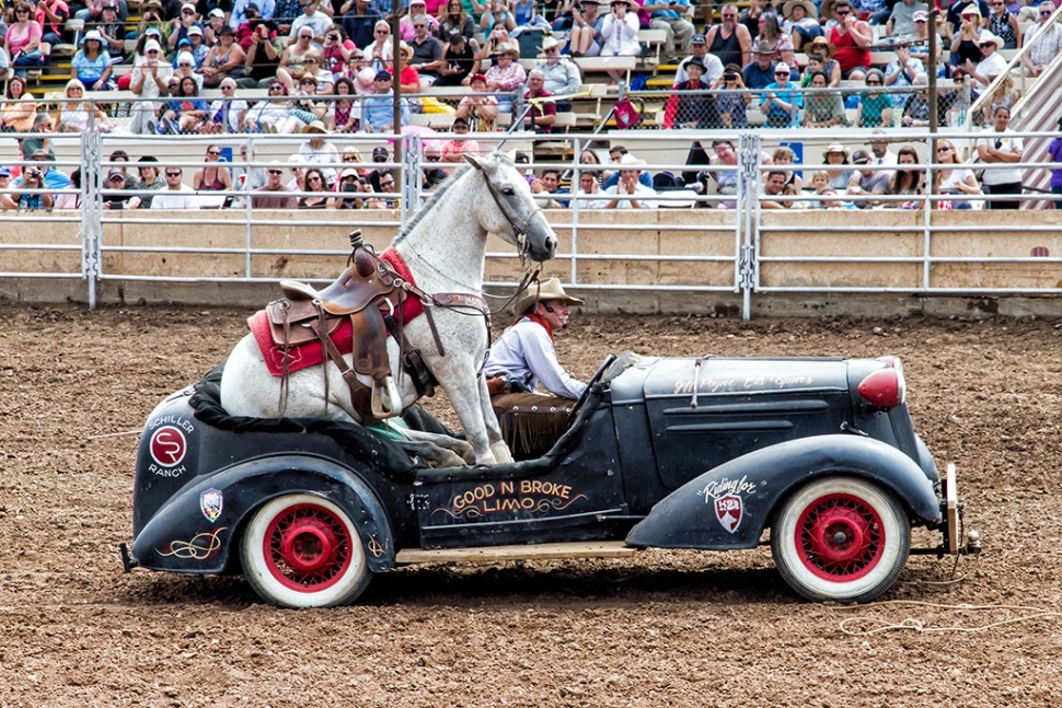
[[[526, 288], [517, 320], [490, 347], [483, 369], [501, 434], [516, 460], [541, 456], [567, 429], [573, 401], [586, 390], [557, 361], [554, 335], [568, 326], [573, 298], [550, 278]], [[547, 394], [534, 393], [542, 385]]]

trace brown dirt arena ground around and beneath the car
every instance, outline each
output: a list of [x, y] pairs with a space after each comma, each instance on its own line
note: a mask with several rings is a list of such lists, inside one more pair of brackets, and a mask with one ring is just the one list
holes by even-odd
[[[575, 316], [612, 351], [902, 357], [984, 553], [912, 557], [870, 606], [807, 604], [770, 550], [453, 566], [281, 612], [242, 578], [124, 574], [136, 431], [246, 311], [3, 303], [0, 706], [1047, 706], [1062, 695], [1057, 322]], [[111, 436], [111, 437], [107, 437]], [[936, 542], [926, 532], [916, 542]], [[844, 623], [844, 624], [842, 624]], [[897, 628], [902, 626], [903, 628]], [[866, 634], [882, 629], [877, 634]]]

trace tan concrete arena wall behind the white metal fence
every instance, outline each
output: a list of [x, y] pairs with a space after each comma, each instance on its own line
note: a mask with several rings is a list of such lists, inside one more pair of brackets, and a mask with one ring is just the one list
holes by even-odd
[[[547, 212], [561, 237], [561, 253], [570, 253], [572, 214]], [[55, 217], [56, 214], [53, 214]], [[242, 212], [116, 212], [104, 225], [104, 247], [129, 248], [224, 248], [239, 253], [177, 253], [105, 251], [100, 283], [101, 303], [186, 303], [196, 305], [255, 306], [277, 295], [280, 279], [325, 279], [339, 272], [347, 251], [347, 234], [354, 228], [350, 212], [256, 211], [251, 231], [254, 249], [280, 253], [251, 257], [253, 278], [263, 283], [173, 282], [134, 280], [153, 278], [242, 278], [246, 275], [249, 233]], [[588, 299], [589, 310], [599, 312], [719, 313], [738, 315], [741, 293], [734, 292], [732, 260], [683, 262], [669, 255], [718, 256], [732, 259], [735, 213], [717, 210], [658, 210], [633, 214], [625, 211], [584, 212], [576, 237], [581, 255], [622, 254], [623, 258], [580, 259], [578, 282], [601, 289], [576, 289]], [[31, 229], [4, 229], [8, 245], [26, 248], [0, 251], [0, 271], [23, 274], [79, 274], [80, 222], [49, 221], [32, 214]], [[134, 220], [150, 218], [148, 223]], [[394, 236], [397, 213], [357, 212], [366, 239], [382, 251]], [[635, 219], [637, 223], [634, 223]], [[307, 220], [316, 223], [307, 225]], [[922, 287], [923, 265], [914, 263], [858, 263], [854, 260], [808, 263], [808, 256], [839, 258], [921, 257], [925, 240], [921, 211], [789, 211], [764, 212], [761, 227], [761, 289], [891, 289], [897, 292], [757, 292], [752, 315], [822, 314], [931, 314], [1002, 313], [1058, 316], [1059, 297], [946, 297], [914, 295]], [[1046, 246], [1052, 256], [1062, 253], [1062, 224], [1053, 212], [935, 212], [932, 239], [934, 257], [966, 257], [973, 262], [935, 264], [931, 269], [934, 288], [962, 289], [1059, 289], [1062, 268], [1058, 264], [991, 264], [990, 257], [1028, 257], [1035, 246]], [[334, 225], [332, 225], [334, 224]], [[1013, 229], [1006, 229], [1013, 224]], [[1003, 231], [988, 228], [1003, 227]], [[1032, 231], [1031, 227], [1042, 228]], [[836, 229], [836, 231], [828, 231]], [[41, 248], [60, 245], [64, 251]], [[293, 251], [326, 251], [332, 254], [296, 254]], [[513, 249], [492, 236], [490, 252]], [[665, 256], [647, 260], [642, 256]], [[775, 260], [776, 259], [776, 260]], [[546, 264], [545, 276], [570, 279], [570, 257]], [[515, 281], [520, 267], [512, 256], [488, 259], [487, 280]], [[114, 279], [109, 279], [114, 278]], [[637, 290], [656, 285], [681, 288], [709, 287], [714, 292]], [[27, 301], [88, 301], [88, 285], [81, 279], [48, 277], [0, 279], [0, 295]]]

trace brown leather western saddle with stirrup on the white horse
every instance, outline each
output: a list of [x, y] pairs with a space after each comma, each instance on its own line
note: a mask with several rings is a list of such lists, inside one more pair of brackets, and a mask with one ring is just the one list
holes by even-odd
[[[396, 274], [382, 262], [372, 247], [361, 241], [361, 232], [350, 234], [354, 246], [347, 268], [322, 290], [292, 280], [280, 282], [285, 299], [266, 306], [273, 341], [284, 351], [284, 376], [287, 381], [288, 350], [299, 345], [320, 341], [325, 361], [331, 360], [350, 388], [355, 409], [368, 419], [391, 418], [401, 414], [401, 396], [391, 373], [388, 357], [388, 324], [384, 312], [394, 313], [406, 292], [396, 287]], [[332, 339], [339, 326], [349, 320], [353, 326], [353, 370]], [[400, 343], [402, 340], [400, 339]], [[372, 379], [362, 384], [357, 374]], [[281, 409], [285, 387], [281, 385]], [[327, 376], [325, 376], [327, 399]]]

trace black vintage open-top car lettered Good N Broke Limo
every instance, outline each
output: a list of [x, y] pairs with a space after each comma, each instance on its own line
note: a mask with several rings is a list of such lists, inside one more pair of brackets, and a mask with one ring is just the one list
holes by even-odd
[[[891, 357], [610, 357], [546, 455], [439, 469], [378, 431], [230, 417], [219, 380], [148, 418], [127, 571], [242, 569], [265, 601], [318, 607], [399, 565], [770, 543], [801, 596], [865, 602], [910, 553], [977, 545], [960, 545], [954, 467], [940, 479]], [[912, 549], [917, 526], [940, 543]]]

